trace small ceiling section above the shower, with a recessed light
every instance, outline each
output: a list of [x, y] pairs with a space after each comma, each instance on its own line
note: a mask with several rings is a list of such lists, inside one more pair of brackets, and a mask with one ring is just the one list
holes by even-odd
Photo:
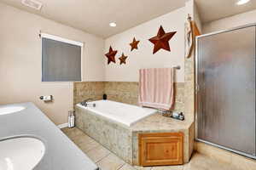
[[237, 0], [195, 0], [203, 23], [256, 9], [256, 0], [236, 5]]

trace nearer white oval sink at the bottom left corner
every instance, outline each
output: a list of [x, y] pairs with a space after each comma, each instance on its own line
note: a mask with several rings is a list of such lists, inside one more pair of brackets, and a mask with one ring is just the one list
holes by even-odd
[[32, 137], [0, 140], [1, 170], [32, 170], [43, 158], [44, 143]]

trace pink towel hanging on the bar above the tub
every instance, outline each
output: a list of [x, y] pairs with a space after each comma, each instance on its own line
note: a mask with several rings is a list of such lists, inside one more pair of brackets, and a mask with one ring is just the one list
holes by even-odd
[[139, 71], [139, 105], [170, 110], [174, 104], [173, 68]]

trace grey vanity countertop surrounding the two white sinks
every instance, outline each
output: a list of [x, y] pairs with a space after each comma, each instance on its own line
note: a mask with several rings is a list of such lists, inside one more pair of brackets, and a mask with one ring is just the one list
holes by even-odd
[[73, 144], [32, 103], [0, 106], [24, 106], [25, 110], [0, 116], [0, 140], [11, 136], [33, 136], [45, 145], [45, 154], [34, 170], [96, 170], [98, 167]]

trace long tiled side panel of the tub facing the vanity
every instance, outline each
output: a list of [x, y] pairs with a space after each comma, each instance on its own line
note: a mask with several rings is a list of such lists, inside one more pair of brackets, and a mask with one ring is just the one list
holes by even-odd
[[109, 121], [107, 118], [77, 105], [75, 111], [76, 127], [124, 161], [132, 164], [132, 138], [129, 128], [120, 126], [116, 122]]

